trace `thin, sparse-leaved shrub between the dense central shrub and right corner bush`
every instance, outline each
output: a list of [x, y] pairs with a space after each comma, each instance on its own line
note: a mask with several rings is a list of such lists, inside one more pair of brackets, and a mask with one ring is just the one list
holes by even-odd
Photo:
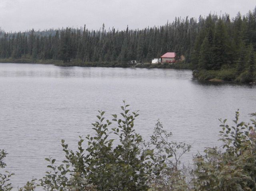
[[162, 161], [162, 170], [149, 191], [186, 191], [189, 188], [180, 170], [180, 158], [190, 151], [191, 145], [171, 140], [172, 133], [166, 132], [158, 120], [149, 145], [154, 148], [155, 160]]

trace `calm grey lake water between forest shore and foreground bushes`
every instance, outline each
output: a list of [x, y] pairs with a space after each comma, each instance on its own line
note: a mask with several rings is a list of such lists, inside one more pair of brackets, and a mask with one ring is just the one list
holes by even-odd
[[[47, 171], [46, 157], [64, 159], [61, 139], [76, 149], [79, 135], [93, 134], [98, 110], [121, 112], [122, 100], [140, 110], [136, 132], [148, 140], [158, 118], [173, 140], [192, 144], [182, 161], [220, 146], [218, 118], [231, 123], [256, 112], [256, 87], [205, 83], [189, 70], [58, 67], [0, 63], [0, 149], [14, 187]], [[120, 116], [120, 115], [119, 115]]]

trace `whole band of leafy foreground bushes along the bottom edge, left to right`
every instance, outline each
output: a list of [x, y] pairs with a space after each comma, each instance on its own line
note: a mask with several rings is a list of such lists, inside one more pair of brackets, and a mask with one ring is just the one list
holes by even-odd
[[[193, 177], [188, 182], [180, 169], [180, 158], [189, 152], [191, 145], [173, 142], [172, 133], [156, 123], [149, 142], [145, 142], [134, 131], [137, 112], [122, 106], [122, 118], [116, 114], [112, 122], [116, 127], [110, 129], [112, 122], [105, 120], [104, 112], [99, 111], [98, 121], [93, 123], [94, 136], [80, 136], [78, 150], [72, 151], [62, 140], [66, 159], [55, 165], [56, 159], [49, 161], [46, 175], [38, 181], [28, 181], [19, 191], [34, 191], [40, 186], [47, 191], [255, 191], [256, 190], [256, 120], [252, 124], [239, 122], [236, 112], [235, 126], [220, 120], [223, 149], [206, 148], [205, 155], [194, 157]], [[256, 113], [251, 114], [256, 116]], [[109, 131], [118, 137], [118, 144], [109, 139]], [[116, 140], [117, 141], [117, 140]], [[0, 150], [0, 167], [6, 152]], [[11, 173], [0, 174], [0, 191], [10, 191], [8, 183]]]

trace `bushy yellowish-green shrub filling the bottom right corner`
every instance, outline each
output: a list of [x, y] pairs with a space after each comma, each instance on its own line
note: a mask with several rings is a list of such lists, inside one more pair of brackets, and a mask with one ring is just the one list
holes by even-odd
[[[255, 116], [256, 114], [252, 114]], [[239, 122], [236, 112], [235, 125], [220, 120], [223, 151], [207, 148], [205, 155], [194, 158], [195, 191], [256, 190], [256, 120], [252, 124]]]

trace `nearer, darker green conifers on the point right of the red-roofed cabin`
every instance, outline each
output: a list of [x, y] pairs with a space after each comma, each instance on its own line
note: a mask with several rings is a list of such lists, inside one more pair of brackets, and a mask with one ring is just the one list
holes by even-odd
[[[200, 22], [199, 22], [200, 24]], [[230, 21], [209, 15], [192, 49], [191, 66], [201, 79], [255, 80], [256, 9]]]

